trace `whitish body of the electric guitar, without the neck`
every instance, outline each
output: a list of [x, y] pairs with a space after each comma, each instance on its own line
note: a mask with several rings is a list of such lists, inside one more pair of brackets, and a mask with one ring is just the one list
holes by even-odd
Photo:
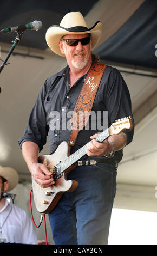
[[[68, 143], [62, 142], [55, 153], [52, 155], [42, 155], [38, 157], [38, 162], [44, 164], [53, 175], [53, 168], [58, 162], [62, 162], [68, 157]], [[76, 167], [76, 164], [71, 165], [66, 169], [62, 176], [56, 179], [55, 185], [43, 188], [37, 184], [32, 177], [32, 190], [34, 202], [38, 212], [48, 213], [52, 211], [61, 196], [65, 192], [73, 192], [78, 182], [75, 180], [67, 180], [68, 173]]]

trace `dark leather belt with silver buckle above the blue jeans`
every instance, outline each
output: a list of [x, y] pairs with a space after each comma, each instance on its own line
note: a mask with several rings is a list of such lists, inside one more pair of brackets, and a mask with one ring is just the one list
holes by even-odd
[[112, 166], [117, 167], [117, 162], [114, 160], [108, 160], [108, 159], [85, 159], [85, 160], [79, 160], [76, 162], [77, 166], [91, 166], [96, 163], [108, 163], [112, 164]]

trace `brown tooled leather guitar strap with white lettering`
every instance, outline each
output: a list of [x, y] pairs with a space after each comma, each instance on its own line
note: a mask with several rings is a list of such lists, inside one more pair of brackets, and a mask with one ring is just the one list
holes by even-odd
[[100, 62], [93, 63], [86, 76], [80, 95], [78, 96], [70, 125], [73, 128], [68, 144], [74, 146], [78, 132], [87, 125], [95, 95], [99, 87], [102, 75], [107, 65]]

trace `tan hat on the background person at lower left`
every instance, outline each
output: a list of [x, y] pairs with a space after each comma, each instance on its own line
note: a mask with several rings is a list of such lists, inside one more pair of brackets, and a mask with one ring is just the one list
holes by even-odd
[[0, 166], [0, 176], [9, 182], [8, 191], [13, 190], [18, 184], [18, 173], [11, 167]]

